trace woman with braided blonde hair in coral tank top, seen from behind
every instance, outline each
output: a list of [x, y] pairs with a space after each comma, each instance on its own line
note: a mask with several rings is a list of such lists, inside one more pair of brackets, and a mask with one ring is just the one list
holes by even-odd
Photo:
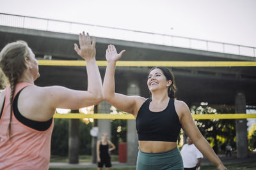
[[56, 108], [77, 110], [103, 99], [95, 60], [95, 38], [79, 34], [74, 49], [86, 61], [88, 90], [38, 87], [38, 62], [26, 42], [4, 46], [0, 67], [8, 79], [0, 94], [0, 169], [49, 169], [53, 115]]

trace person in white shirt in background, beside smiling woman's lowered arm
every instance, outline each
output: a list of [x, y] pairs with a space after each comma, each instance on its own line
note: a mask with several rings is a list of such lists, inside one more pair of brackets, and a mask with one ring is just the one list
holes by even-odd
[[184, 170], [196, 170], [200, 167], [203, 154], [196, 148], [193, 141], [188, 137], [180, 153], [183, 160]]

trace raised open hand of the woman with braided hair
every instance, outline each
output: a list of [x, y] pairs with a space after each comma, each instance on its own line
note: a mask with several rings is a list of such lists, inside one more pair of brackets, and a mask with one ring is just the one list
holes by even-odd
[[77, 46], [77, 44], [74, 44], [74, 49], [77, 52], [78, 55], [80, 55], [84, 60], [92, 60], [95, 59], [96, 50], [95, 50], [95, 37], [91, 39], [87, 32], [87, 34], [79, 34], [79, 45], [80, 48]]

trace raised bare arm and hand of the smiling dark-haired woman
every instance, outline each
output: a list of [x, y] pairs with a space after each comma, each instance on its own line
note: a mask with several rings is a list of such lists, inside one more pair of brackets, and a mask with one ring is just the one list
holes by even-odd
[[138, 108], [140, 108], [140, 105], [145, 101], [145, 98], [140, 96], [125, 96], [123, 94], [115, 93], [116, 61], [122, 57], [124, 52], [125, 50], [122, 50], [122, 52], [117, 53], [115, 46], [108, 46], [108, 49], [106, 50], [106, 60], [108, 61], [108, 66], [106, 68], [103, 81], [103, 94], [104, 99], [106, 99], [109, 104], [115, 106], [119, 110], [132, 113], [132, 115], [136, 117]]

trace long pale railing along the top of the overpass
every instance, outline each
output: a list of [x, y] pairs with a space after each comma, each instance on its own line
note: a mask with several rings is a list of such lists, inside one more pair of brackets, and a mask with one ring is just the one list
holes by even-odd
[[256, 49], [252, 46], [235, 45], [231, 43], [221, 43], [218, 41], [207, 41], [204, 39], [172, 36], [154, 32], [134, 31], [131, 29], [120, 29], [116, 27], [84, 24], [79, 22], [67, 22], [47, 18], [0, 13], [0, 25], [43, 31], [63, 32], [68, 34], [78, 34], [81, 31], [86, 31], [90, 32], [90, 34], [93, 36], [102, 38], [121, 39], [141, 43], [177, 46], [195, 50], [256, 57]]

